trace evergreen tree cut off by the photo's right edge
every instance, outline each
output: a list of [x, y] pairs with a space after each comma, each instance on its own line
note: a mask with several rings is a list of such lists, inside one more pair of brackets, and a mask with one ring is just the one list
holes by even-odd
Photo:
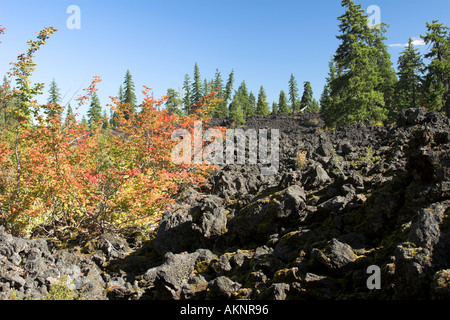
[[431, 50], [426, 66], [424, 89], [426, 103], [431, 110], [445, 111], [450, 117], [450, 32], [447, 26], [433, 20], [427, 23], [427, 34], [421, 36]]

